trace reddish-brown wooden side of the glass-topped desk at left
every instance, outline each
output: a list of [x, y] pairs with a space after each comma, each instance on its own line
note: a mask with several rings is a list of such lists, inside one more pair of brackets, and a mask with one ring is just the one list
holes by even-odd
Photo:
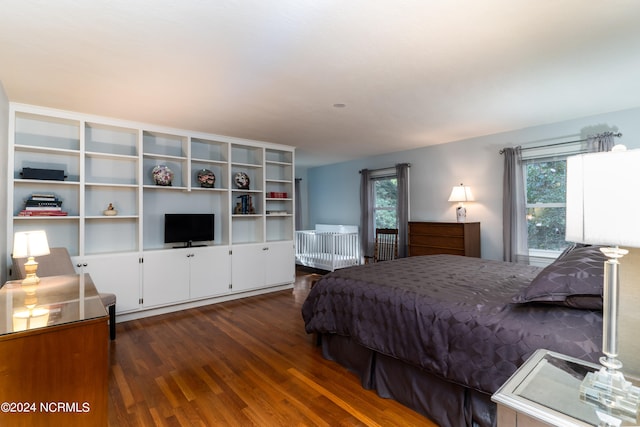
[[0, 425], [104, 426], [107, 342], [106, 316], [5, 336], [0, 401], [29, 403], [29, 409], [0, 412]]

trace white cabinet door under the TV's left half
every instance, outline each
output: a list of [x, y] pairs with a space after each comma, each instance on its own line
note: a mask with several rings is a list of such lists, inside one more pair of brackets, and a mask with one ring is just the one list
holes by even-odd
[[142, 304], [145, 307], [189, 299], [191, 248], [147, 251], [142, 263]]

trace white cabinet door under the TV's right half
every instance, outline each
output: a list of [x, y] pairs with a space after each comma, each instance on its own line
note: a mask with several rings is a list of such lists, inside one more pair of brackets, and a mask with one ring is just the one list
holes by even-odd
[[229, 292], [231, 260], [228, 246], [191, 248], [190, 254], [191, 299]]

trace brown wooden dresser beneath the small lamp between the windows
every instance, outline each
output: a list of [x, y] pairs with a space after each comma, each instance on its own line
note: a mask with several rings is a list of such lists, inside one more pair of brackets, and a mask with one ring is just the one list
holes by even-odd
[[479, 222], [409, 222], [409, 256], [480, 257]]

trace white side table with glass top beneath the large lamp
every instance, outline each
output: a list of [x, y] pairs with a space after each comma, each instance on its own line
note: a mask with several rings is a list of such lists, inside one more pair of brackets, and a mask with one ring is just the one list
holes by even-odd
[[580, 384], [600, 365], [548, 350], [536, 351], [491, 397], [498, 426], [638, 426], [580, 399]]

